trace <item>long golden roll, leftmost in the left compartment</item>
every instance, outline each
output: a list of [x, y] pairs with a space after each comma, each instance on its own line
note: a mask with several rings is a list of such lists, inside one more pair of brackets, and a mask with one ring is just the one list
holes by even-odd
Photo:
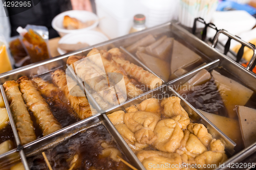
[[23, 101], [22, 93], [19, 91], [19, 84], [15, 81], [6, 81], [3, 86], [5, 87], [20, 142], [26, 144], [35, 140], [33, 122]]

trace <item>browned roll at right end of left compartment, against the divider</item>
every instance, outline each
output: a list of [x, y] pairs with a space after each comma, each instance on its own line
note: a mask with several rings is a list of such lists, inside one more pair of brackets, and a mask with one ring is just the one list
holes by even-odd
[[[63, 70], [58, 69], [54, 71], [52, 74], [52, 81], [65, 94], [66, 98], [68, 99], [68, 105], [73, 109], [73, 111], [79, 116], [80, 119], [85, 119], [92, 116], [92, 110], [86, 96], [73, 96], [70, 94], [66, 74]], [[74, 90], [74, 92], [81, 91], [79, 86], [76, 86], [75, 88], [77, 90]], [[84, 94], [84, 92], [81, 93]]]

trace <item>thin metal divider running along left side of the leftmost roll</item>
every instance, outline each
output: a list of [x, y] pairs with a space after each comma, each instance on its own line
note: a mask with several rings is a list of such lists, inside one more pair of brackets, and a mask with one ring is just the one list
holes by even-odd
[[4, 102], [5, 102], [5, 107], [6, 107], [6, 110], [7, 110], [8, 116], [9, 116], [9, 120], [10, 120], [10, 124], [11, 124], [11, 127], [12, 127], [13, 136], [14, 136], [14, 139], [15, 139], [15, 142], [16, 142], [16, 145], [17, 145], [16, 150], [19, 152], [20, 158], [22, 158], [22, 163], [23, 163], [25, 169], [29, 170], [30, 168], [29, 168], [29, 165], [28, 165], [28, 162], [27, 162], [27, 158], [26, 158], [25, 153], [23, 151], [23, 145], [21, 144], [19, 136], [18, 136], [18, 132], [17, 132], [15, 122], [14, 122], [13, 117], [12, 117], [11, 109], [10, 109], [9, 102], [7, 100], [7, 96], [6, 96], [5, 89], [4, 89], [3, 85], [0, 85], [0, 89], [2, 91], [3, 99], [4, 99]]

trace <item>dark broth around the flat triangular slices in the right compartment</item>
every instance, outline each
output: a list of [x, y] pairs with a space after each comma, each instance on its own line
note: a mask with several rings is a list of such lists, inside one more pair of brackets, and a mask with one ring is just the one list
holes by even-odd
[[[241, 82], [239, 79], [229, 74], [229, 72], [227, 72], [223, 68], [218, 67], [218, 68], [215, 68], [215, 70], [220, 72], [221, 75], [228, 77], [244, 85], [243, 82]], [[208, 113], [213, 113], [220, 116], [228, 117], [227, 109], [222, 101], [221, 95], [218, 91], [217, 85], [215, 84], [215, 81], [213, 78], [211, 78], [208, 82], [202, 85], [194, 86], [192, 90], [190, 89], [189, 91], [185, 91], [185, 92], [182, 91], [179, 93], [186, 94], [185, 100], [188, 101], [196, 109], [200, 109]], [[255, 109], [256, 107], [255, 91], [245, 106]], [[239, 120], [238, 115], [234, 119]], [[241, 128], [239, 129], [240, 129], [240, 132], [236, 132], [236, 131], [233, 132], [240, 135], [240, 138], [236, 140], [236, 143], [237, 143], [237, 146], [235, 148], [236, 151], [241, 151], [242, 149], [245, 148], [242, 140]]]

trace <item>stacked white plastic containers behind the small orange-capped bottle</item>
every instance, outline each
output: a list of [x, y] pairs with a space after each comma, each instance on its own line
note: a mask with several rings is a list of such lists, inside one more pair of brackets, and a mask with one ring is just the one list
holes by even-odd
[[[96, 0], [99, 28], [110, 38], [129, 33], [136, 14], [146, 16], [147, 10], [137, 0]], [[146, 18], [147, 20], [147, 18]]]

